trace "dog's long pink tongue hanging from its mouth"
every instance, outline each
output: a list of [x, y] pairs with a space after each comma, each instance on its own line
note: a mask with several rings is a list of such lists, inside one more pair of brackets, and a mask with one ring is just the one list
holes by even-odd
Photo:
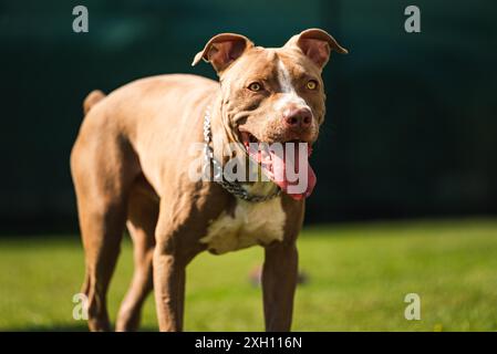
[[[310, 152], [308, 152], [308, 147], [306, 146], [306, 150], [300, 156], [299, 144], [293, 144], [293, 149], [288, 148], [290, 144], [283, 144], [283, 154], [281, 152], [279, 154], [273, 150], [270, 152], [271, 179], [290, 197], [300, 200], [312, 194], [317, 178], [312, 167], [309, 165]], [[301, 148], [303, 147], [301, 146]]]

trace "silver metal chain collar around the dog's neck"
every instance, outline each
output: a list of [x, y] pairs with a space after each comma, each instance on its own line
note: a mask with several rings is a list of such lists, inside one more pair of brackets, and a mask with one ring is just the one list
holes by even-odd
[[240, 183], [228, 181], [222, 178], [221, 165], [216, 160], [216, 158], [214, 158], [214, 149], [210, 146], [210, 143], [213, 142], [213, 132], [210, 128], [210, 106], [206, 108], [204, 115], [204, 142], [205, 142], [205, 149], [204, 149], [205, 168], [210, 168], [210, 165], [213, 164], [214, 180], [217, 184], [219, 184], [222, 188], [225, 188], [227, 191], [232, 194], [235, 197], [238, 197], [240, 199], [250, 202], [262, 202], [276, 198], [281, 194], [281, 189], [278, 187], [273, 192], [267, 196], [252, 195], [249, 194], [247, 189], [245, 189], [241, 186]]

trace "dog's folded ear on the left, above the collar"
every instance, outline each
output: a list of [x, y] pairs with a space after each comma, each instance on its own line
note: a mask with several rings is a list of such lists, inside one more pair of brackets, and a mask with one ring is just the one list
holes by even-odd
[[253, 43], [245, 35], [220, 33], [213, 37], [204, 50], [195, 55], [191, 66], [197, 64], [200, 59], [204, 59], [204, 61], [213, 64], [219, 74], [251, 46], [253, 46]]

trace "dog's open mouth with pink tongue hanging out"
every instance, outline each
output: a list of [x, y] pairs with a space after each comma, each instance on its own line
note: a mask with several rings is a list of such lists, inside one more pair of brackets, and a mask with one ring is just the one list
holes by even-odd
[[309, 165], [310, 143], [299, 139], [261, 143], [248, 132], [240, 132], [248, 156], [260, 164], [262, 171], [293, 199], [309, 197], [315, 186], [315, 174]]

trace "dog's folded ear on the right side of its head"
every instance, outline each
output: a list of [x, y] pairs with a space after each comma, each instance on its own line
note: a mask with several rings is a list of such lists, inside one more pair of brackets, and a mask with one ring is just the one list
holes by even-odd
[[331, 34], [320, 29], [309, 29], [293, 35], [284, 46], [299, 48], [320, 69], [328, 63], [331, 51], [336, 51], [341, 54], [349, 53]]

